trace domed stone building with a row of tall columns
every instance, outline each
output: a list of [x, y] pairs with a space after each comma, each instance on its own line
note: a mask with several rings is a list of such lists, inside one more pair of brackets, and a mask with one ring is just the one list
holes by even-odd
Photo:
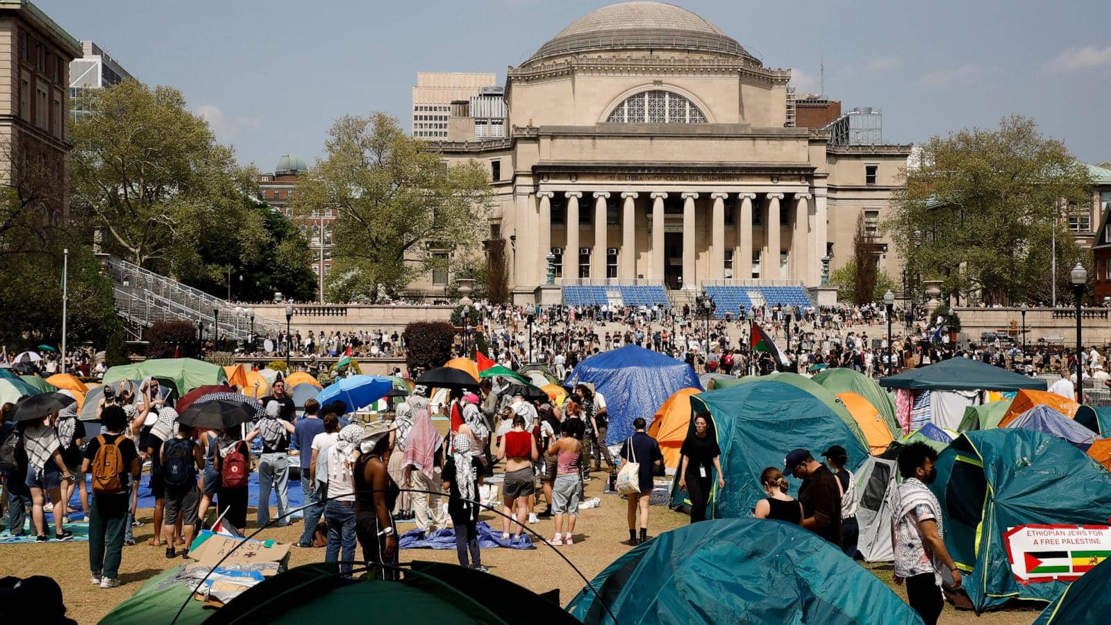
[[504, 241], [516, 302], [558, 301], [569, 285], [605, 286], [611, 301], [634, 284], [680, 298], [819, 287], [823, 257], [851, 257], [858, 218], [871, 229], [887, 212], [910, 146], [795, 128], [790, 80], [687, 9], [622, 2], [509, 68], [506, 138], [431, 147], [489, 163], [490, 239]]

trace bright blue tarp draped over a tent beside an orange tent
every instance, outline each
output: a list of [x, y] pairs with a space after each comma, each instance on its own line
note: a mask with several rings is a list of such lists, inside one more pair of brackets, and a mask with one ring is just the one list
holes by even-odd
[[702, 389], [690, 365], [635, 345], [591, 356], [575, 365], [564, 384], [580, 383], [593, 384], [605, 397], [610, 416], [607, 445], [632, 436], [632, 420], [637, 417], [644, 417], [651, 425], [655, 409], [672, 393], [687, 387]]

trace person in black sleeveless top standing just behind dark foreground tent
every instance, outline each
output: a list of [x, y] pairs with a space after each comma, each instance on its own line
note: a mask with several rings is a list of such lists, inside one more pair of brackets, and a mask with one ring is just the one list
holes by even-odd
[[398, 564], [398, 533], [390, 510], [398, 503], [401, 489], [390, 477], [387, 454], [392, 421], [374, 421], [367, 426], [354, 463], [356, 537], [362, 545], [362, 558], [373, 569], [377, 579], [398, 579], [397, 568], [374, 566]]

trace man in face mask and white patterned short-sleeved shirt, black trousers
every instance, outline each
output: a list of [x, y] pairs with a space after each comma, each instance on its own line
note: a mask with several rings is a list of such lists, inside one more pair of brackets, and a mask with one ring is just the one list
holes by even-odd
[[961, 586], [961, 572], [945, 548], [941, 504], [928, 487], [938, 476], [938, 453], [912, 443], [899, 453], [903, 482], [891, 502], [891, 546], [895, 554], [895, 584], [907, 583], [907, 603], [927, 625], [938, 622], [944, 607], [941, 583]]

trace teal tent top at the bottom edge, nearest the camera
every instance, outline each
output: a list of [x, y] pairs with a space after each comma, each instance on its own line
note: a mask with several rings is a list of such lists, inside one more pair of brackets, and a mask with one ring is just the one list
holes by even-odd
[[760, 518], [660, 534], [605, 567], [567, 609], [590, 624], [922, 623], [883, 582], [825, 539]]

